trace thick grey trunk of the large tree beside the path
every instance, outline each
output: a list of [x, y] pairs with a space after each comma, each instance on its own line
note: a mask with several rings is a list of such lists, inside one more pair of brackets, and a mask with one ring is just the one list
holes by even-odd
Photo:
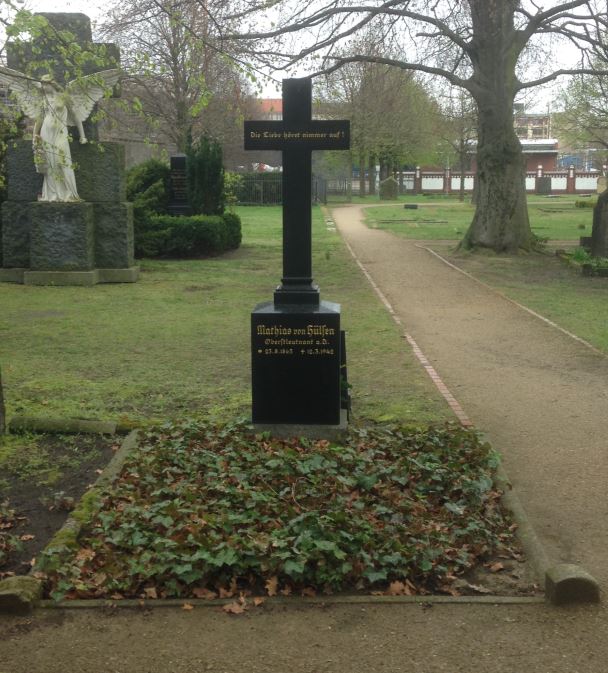
[[475, 39], [471, 53], [477, 102], [477, 208], [461, 246], [496, 252], [529, 250], [524, 158], [513, 127], [515, 66], [522, 49], [513, 17], [519, 0], [469, 0]]

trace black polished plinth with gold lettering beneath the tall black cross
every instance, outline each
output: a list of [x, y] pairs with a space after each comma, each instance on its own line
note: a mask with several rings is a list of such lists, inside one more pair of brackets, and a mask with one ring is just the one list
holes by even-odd
[[251, 314], [255, 424], [340, 424], [340, 305], [321, 301]]

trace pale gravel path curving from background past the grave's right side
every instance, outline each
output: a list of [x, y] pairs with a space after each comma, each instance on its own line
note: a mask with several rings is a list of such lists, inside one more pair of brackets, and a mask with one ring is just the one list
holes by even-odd
[[608, 586], [608, 358], [450, 268], [414, 241], [333, 211], [506, 471], [553, 563]]

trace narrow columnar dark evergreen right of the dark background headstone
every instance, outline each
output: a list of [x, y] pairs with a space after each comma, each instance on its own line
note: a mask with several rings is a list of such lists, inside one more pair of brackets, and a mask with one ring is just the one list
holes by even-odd
[[188, 203], [197, 215], [224, 212], [224, 163], [222, 146], [206, 135], [190, 143], [186, 151]]

